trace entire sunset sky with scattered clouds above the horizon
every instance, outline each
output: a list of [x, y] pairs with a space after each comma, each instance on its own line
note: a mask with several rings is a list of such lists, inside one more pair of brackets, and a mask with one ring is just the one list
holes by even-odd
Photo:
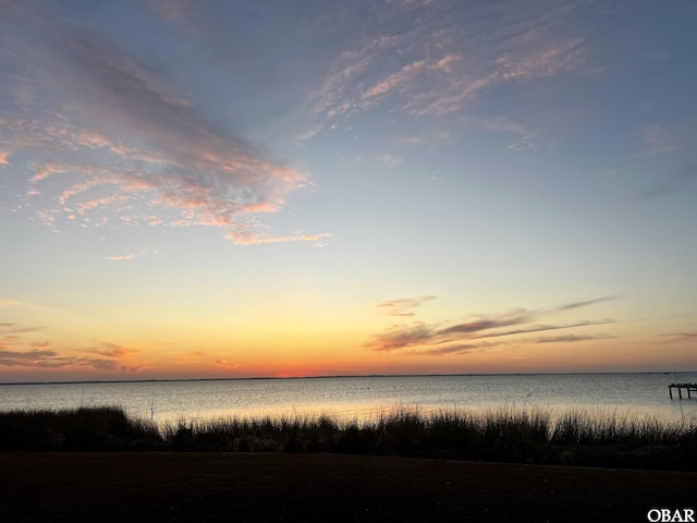
[[0, 0], [0, 382], [697, 369], [695, 27]]

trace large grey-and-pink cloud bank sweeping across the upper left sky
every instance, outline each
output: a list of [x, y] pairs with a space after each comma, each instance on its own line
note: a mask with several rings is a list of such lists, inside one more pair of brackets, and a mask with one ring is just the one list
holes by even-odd
[[[15, 11], [0, 23], [10, 47], [0, 66], [22, 71], [5, 76], [15, 110], [1, 115], [3, 161], [32, 153], [27, 196], [56, 194], [38, 210], [44, 221], [94, 224], [115, 215], [120, 223], [216, 227], [234, 238], [309, 184], [306, 172], [208, 124], [167, 77], [101, 35]], [[95, 212], [101, 221], [86, 219]]]

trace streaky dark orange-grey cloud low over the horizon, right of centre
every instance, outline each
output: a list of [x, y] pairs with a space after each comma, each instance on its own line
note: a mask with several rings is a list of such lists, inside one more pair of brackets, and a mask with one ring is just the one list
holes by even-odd
[[[591, 306], [611, 299], [613, 297], [607, 296], [587, 300], [584, 302], [572, 302], [561, 307], [538, 311], [516, 309], [511, 313], [480, 316], [476, 319], [452, 326], [442, 326], [441, 324], [428, 325], [421, 321], [409, 325], [398, 325], [390, 327], [383, 332], [374, 335], [364, 346], [377, 352], [409, 349], [414, 354], [424, 355], [466, 353], [476, 349], [488, 349], [493, 344], [499, 344], [499, 340], [505, 337], [612, 324], [614, 323], [613, 319], [584, 319], [574, 323], [540, 323], [541, 319], [547, 317], [563, 314], [572, 309]], [[408, 300], [395, 300], [381, 304], [382, 308], [390, 313], [402, 313], [392, 314], [393, 316], [409, 316], [409, 307], [416, 305], [420, 305], [420, 303], [413, 303]], [[598, 337], [585, 337], [583, 339], [590, 340], [598, 339]], [[540, 340], [542, 339], [538, 339], [537, 342], [543, 342]], [[582, 337], [570, 335], [563, 339], [562, 337], [558, 337], [555, 339], [549, 338], [549, 340], [582, 341]]]

